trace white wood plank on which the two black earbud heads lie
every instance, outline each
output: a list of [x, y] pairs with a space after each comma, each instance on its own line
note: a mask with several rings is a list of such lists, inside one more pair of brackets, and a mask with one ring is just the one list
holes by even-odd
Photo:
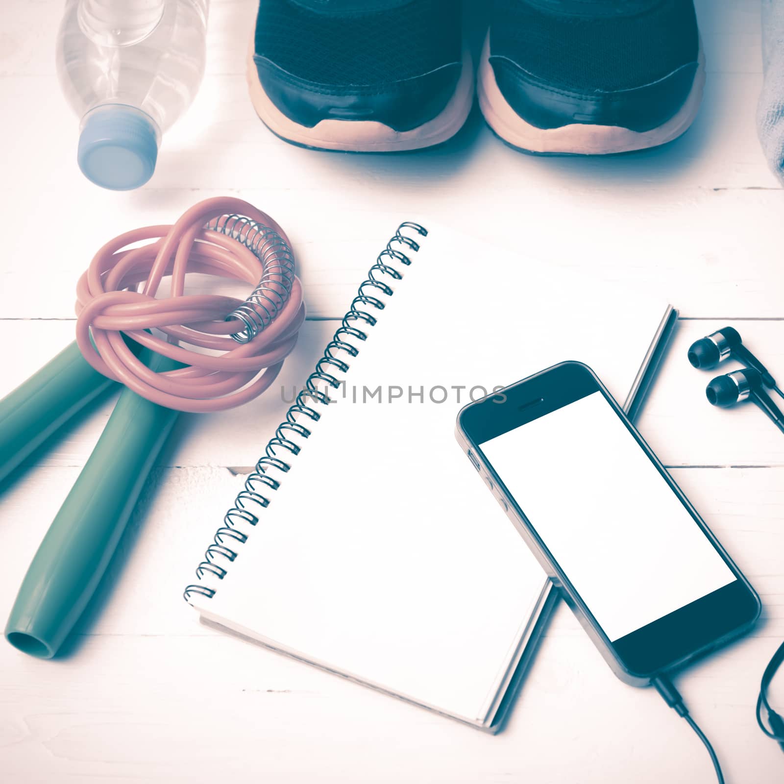
[[[784, 319], [681, 321], [637, 422], [666, 465], [784, 464], [784, 439], [755, 405], [747, 402], [721, 409], [706, 401], [705, 387], [710, 379], [739, 367], [738, 363], [724, 363], [713, 372], [695, 370], [688, 363], [686, 353], [691, 343], [726, 325], [735, 326], [746, 345], [772, 373], [784, 379]], [[278, 380], [256, 401], [208, 416], [183, 415], [159, 463], [164, 466], [255, 463], [274, 428], [284, 419], [295, 389], [301, 389], [336, 326], [335, 321], [308, 321]], [[72, 338], [72, 321], [0, 320], [0, 345], [7, 347], [10, 357], [0, 377], [0, 395], [31, 376]], [[66, 426], [59, 437], [28, 463], [83, 465], [111, 414], [115, 397], [107, 397], [80, 416], [74, 425]]]

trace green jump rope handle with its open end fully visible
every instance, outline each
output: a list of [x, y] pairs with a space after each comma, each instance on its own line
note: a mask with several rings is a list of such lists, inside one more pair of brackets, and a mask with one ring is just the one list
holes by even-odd
[[[155, 371], [183, 367], [142, 350]], [[179, 412], [125, 389], [76, 484], [38, 547], [5, 638], [51, 659], [82, 615], [125, 529], [147, 474]]]

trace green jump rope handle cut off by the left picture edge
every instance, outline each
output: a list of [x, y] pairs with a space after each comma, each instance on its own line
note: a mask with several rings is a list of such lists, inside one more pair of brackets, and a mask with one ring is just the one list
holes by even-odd
[[[127, 340], [134, 354], [140, 346]], [[76, 343], [0, 400], [0, 481], [114, 381], [93, 370]]]

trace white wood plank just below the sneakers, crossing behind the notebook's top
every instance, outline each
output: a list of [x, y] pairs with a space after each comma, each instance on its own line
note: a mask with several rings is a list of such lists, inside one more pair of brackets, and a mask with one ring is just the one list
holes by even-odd
[[[784, 192], [683, 194], [662, 189], [634, 196], [622, 188], [591, 192], [543, 187], [537, 193], [528, 185], [516, 192], [508, 184], [506, 197], [488, 212], [480, 204], [452, 203], [454, 194], [419, 192], [416, 198], [404, 198], [403, 191], [416, 191], [413, 183], [401, 191], [386, 186], [366, 191], [362, 209], [337, 212], [324, 209], [327, 194], [292, 190], [274, 198], [265, 191], [237, 195], [270, 212], [289, 232], [309, 313], [320, 318], [343, 316], [401, 220], [426, 223], [428, 218], [476, 236], [466, 254], [474, 257], [478, 270], [484, 267], [482, 241], [520, 256], [521, 264], [504, 270], [494, 285], [524, 286], [524, 259], [531, 257], [548, 261], [564, 274], [583, 270], [597, 285], [621, 280], [632, 290], [658, 292], [684, 316], [784, 315], [784, 266], [775, 250]], [[17, 199], [9, 202], [5, 217], [13, 230], [0, 260], [2, 318], [73, 318], [76, 281], [104, 241], [129, 227], [175, 220], [196, 201], [220, 193], [143, 191], [133, 197], [101, 196], [99, 201], [82, 183], [74, 187], [82, 205], [75, 217], [63, 209], [62, 195], [53, 191], [36, 197], [34, 208]], [[119, 201], [113, 201], [115, 195]], [[31, 265], [41, 270], [34, 280]], [[235, 291], [245, 296], [249, 287]]]

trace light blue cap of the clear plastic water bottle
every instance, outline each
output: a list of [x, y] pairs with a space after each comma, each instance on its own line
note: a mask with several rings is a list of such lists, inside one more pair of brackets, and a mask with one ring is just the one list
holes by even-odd
[[155, 171], [158, 136], [147, 115], [120, 104], [90, 112], [79, 136], [82, 173], [111, 191], [131, 191]]

